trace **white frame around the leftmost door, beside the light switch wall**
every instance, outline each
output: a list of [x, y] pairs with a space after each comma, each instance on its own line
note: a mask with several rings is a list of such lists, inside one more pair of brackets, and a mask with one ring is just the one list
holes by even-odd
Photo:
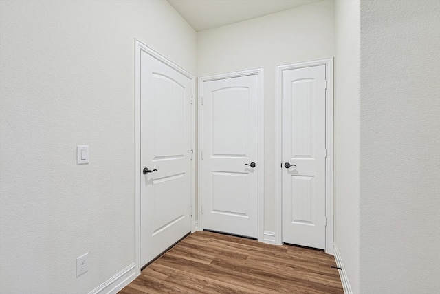
[[[142, 176], [142, 167], [140, 165], [140, 56], [141, 52], [145, 52], [153, 56], [158, 61], [162, 61], [169, 67], [172, 67], [177, 72], [180, 72], [184, 76], [190, 78], [191, 82], [191, 149], [195, 152], [195, 103], [194, 103], [194, 94], [195, 94], [195, 76], [187, 72], [179, 65], [173, 63], [169, 59], [166, 59], [164, 56], [156, 52], [155, 50], [149, 48], [147, 45], [142, 43], [141, 41], [135, 39], [135, 264], [136, 264], [136, 274], [140, 275], [140, 269], [143, 266], [141, 264], [141, 256], [140, 256], [140, 185], [141, 185], [141, 176]], [[193, 216], [193, 207], [195, 206], [195, 160], [194, 156], [192, 156], [191, 162], [191, 232], [195, 232], [195, 222]]]

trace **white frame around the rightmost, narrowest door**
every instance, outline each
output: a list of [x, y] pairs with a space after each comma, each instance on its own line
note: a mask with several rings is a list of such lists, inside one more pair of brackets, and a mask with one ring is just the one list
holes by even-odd
[[283, 244], [283, 191], [282, 172], [280, 165], [283, 163], [283, 71], [297, 68], [325, 65], [325, 78], [327, 89], [325, 91], [325, 216], [327, 226], [325, 227], [325, 253], [333, 254], [333, 57], [304, 61], [300, 63], [289, 63], [276, 66], [276, 239], [278, 245]]

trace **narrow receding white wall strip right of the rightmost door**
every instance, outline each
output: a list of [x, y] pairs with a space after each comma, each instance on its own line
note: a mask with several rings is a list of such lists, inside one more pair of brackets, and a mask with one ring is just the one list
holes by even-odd
[[334, 242], [359, 293], [360, 1], [335, 1]]

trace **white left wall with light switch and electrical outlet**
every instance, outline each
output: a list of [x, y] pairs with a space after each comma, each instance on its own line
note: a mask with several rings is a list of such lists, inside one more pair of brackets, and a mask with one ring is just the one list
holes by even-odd
[[167, 1], [0, 1], [0, 293], [88, 293], [135, 262], [135, 38], [195, 73]]

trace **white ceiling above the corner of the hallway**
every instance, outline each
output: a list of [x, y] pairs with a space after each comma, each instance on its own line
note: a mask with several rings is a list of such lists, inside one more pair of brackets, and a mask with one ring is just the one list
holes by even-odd
[[168, 0], [197, 32], [318, 1], [322, 0]]

